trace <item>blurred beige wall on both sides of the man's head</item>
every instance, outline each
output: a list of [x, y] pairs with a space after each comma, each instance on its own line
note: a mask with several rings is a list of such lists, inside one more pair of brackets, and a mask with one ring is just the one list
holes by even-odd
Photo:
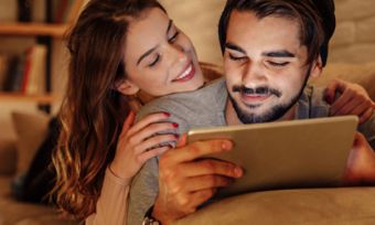
[[[217, 22], [225, 0], [161, 0], [170, 17], [193, 40], [200, 60], [222, 63]], [[375, 61], [375, 1], [334, 0], [338, 26], [330, 62]]]

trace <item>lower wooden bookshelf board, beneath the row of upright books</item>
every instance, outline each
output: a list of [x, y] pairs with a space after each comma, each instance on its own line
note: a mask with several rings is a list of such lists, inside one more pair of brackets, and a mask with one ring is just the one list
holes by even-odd
[[20, 93], [0, 93], [0, 101], [30, 101], [51, 104], [55, 100], [53, 95], [25, 95]]

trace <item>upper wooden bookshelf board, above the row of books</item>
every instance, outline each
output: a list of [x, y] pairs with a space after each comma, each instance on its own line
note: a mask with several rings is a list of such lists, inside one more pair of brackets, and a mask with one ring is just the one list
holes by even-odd
[[0, 23], [1, 35], [47, 35], [54, 38], [64, 36], [67, 24], [46, 23]]

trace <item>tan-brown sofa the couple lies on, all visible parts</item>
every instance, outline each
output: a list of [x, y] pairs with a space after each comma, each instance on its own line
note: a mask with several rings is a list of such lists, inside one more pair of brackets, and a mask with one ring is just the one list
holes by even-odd
[[[363, 85], [375, 99], [375, 63], [329, 64], [324, 85], [341, 77]], [[0, 137], [0, 225], [69, 225], [55, 208], [17, 201], [11, 181], [30, 163], [35, 147], [45, 136], [49, 117], [14, 114], [18, 140]], [[25, 153], [28, 152], [28, 153]], [[208, 205], [176, 222], [186, 224], [375, 224], [375, 188], [280, 190], [248, 193]]]

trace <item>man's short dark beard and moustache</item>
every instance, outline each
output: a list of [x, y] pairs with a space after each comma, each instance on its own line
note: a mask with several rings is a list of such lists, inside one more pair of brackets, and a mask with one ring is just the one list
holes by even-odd
[[[236, 100], [229, 95], [229, 99], [232, 101], [233, 108], [236, 110], [238, 119], [243, 124], [258, 124], [258, 122], [269, 122], [269, 121], [275, 121], [279, 118], [281, 118], [283, 115], [289, 111], [291, 107], [293, 107], [297, 101], [299, 100], [300, 96], [303, 93], [304, 87], [307, 86], [309, 76], [310, 76], [310, 69], [308, 69], [308, 74], [306, 76], [306, 79], [303, 82], [302, 87], [298, 92], [297, 95], [294, 95], [289, 103], [287, 104], [279, 104], [270, 108], [268, 111], [261, 114], [261, 115], [256, 115], [256, 114], [249, 114], [246, 110], [243, 110], [239, 105], [236, 103]], [[282, 96], [282, 93], [277, 89], [269, 88], [267, 86], [261, 86], [257, 88], [247, 88], [245, 86], [234, 86], [233, 87], [233, 93], [238, 92], [239, 94], [272, 94], [276, 97], [280, 98]], [[256, 108], [258, 106], [247, 106], [248, 108]]]

